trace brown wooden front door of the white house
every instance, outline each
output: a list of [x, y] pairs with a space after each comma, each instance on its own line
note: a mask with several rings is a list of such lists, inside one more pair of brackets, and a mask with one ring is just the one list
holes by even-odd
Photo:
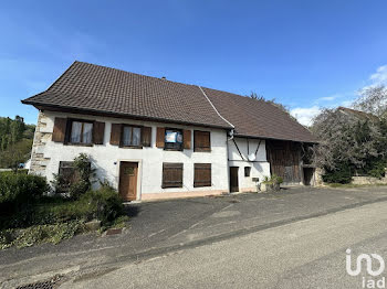
[[138, 163], [122, 161], [119, 167], [119, 195], [125, 201], [137, 199]]

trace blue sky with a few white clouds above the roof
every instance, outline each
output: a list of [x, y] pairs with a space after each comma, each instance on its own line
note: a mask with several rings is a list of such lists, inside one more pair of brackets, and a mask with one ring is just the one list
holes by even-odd
[[0, 3], [0, 116], [75, 60], [287, 106], [303, 125], [387, 84], [387, 1], [163, 0]]

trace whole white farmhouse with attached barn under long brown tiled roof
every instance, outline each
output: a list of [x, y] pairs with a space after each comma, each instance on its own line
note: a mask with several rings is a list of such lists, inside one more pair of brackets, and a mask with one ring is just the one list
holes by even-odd
[[22, 103], [39, 109], [30, 173], [50, 181], [85, 152], [127, 201], [301, 183], [315, 141], [270, 103], [82, 62]]

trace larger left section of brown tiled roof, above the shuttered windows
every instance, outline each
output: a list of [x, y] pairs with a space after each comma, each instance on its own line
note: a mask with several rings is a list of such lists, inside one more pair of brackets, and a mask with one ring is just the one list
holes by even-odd
[[230, 128], [198, 86], [74, 62], [45, 92], [24, 104]]

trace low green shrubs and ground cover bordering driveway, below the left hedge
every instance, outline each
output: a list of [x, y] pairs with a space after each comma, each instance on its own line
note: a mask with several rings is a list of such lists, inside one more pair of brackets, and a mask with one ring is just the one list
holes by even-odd
[[35, 244], [57, 244], [85, 233], [85, 223], [102, 221], [100, 233], [108, 228], [124, 228], [125, 215], [122, 200], [111, 189], [90, 191], [80, 200], [40, 197], [21, 211], [0, 215], [0, 249]]

